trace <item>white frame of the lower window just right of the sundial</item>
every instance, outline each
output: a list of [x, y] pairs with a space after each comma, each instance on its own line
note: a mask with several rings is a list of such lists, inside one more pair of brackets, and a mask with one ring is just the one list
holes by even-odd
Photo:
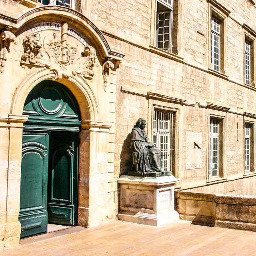
[[[213, 124], [217, 124], [217, 126], [213, 126]], [[217, 132], [213, 130], [213, 128], [217, 128]], [[220, 151], [220, 140], [219, 140], [219, 131], [220, 131], [220, 120], [215, 118], [210, 118], [210, 145], [209, 145], [209, 175], [211, 178], [219, 177], [219, 151]], [[214, 161], [213, 163], [213, 142], [214, 140], [217, 141], [217, 156], [214, 156], [214, 158], [217, 158], [217, 162]], [[217, 164], [217, 168], [216, 168]], [[214, 168], [213, 168], [214, 165]], [[213, 175], [213, 172], [215, 175]]]

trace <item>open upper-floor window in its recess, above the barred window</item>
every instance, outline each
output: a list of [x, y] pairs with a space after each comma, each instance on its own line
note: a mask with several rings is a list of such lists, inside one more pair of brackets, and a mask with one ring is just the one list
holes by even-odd
[[178, 0], [157, 0], [156, 47], [177, 54]]

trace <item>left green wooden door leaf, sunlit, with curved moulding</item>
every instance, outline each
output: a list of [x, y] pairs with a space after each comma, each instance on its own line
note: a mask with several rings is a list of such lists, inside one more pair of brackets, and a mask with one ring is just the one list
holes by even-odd
[[48, 132], [26, 132], [20, 180], [21, 238], [47, 232]]

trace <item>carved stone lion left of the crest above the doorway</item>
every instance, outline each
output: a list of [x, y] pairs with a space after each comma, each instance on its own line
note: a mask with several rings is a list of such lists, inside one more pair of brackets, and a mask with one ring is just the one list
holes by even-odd
[[50, 66], [50, 56], [43, 48], [39, 33], [26, 36], [23, 40], [23, 47], [22, 64], [32, 64], [40, 67]]

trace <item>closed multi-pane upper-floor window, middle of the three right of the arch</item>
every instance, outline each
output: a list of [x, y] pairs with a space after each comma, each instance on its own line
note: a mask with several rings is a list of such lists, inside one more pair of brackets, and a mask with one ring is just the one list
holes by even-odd
[[220, 71], [220, 20], [212, 15], [211, 68]]

